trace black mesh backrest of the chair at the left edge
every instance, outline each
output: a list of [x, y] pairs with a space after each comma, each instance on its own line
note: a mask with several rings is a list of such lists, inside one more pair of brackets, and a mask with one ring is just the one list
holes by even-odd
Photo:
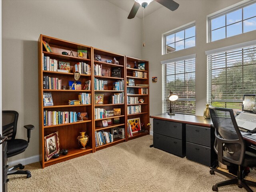
[[2, 111], [2, 135], [8, 136], [7, 140], [15, 139], [18, 117], [16, 111]]

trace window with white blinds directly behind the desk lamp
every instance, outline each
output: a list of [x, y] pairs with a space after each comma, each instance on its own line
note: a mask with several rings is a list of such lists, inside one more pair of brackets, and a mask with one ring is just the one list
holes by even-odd
[[195, 98], [196, 54], [162, 61], [162, 112], [169, 112], [170, 90], [179, 96], [172, 102], [172, 111], [180, 114], [196, 114]]

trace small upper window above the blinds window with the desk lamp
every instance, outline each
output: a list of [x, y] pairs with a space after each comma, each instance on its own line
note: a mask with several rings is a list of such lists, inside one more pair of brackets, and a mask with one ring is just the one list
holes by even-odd
[[195, 23], [172, 30], [164, 37], [164, 54], [196, 46]]

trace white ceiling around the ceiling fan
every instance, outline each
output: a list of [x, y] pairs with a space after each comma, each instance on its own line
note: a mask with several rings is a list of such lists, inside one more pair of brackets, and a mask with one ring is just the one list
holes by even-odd
[[[125, 10], [127, 13], [127, 17], [132, 9], [132, 6], [134, 4], [134, 0], [108, 0], [108, 2], [118, 6], [119, 8], [121, 8], [122, 10]], [[162, 8], [163, 6], [161, 4], [159, 4], [156, 1], [152, 1], [144, 10], [144, 16], [146, 17], [147, 15], [151, 14], [152, 12]], [[138, 18], [143, 18], [143, 8], [142, 6], [140, 6], [136, 17]]]

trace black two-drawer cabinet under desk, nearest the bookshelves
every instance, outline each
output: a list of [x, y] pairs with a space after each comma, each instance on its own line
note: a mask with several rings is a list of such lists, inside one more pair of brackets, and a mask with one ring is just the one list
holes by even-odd
[[186, 155], [184, 124], [154, 119], [153, 128], [153, 144], [155, 148], [180, 157]]

